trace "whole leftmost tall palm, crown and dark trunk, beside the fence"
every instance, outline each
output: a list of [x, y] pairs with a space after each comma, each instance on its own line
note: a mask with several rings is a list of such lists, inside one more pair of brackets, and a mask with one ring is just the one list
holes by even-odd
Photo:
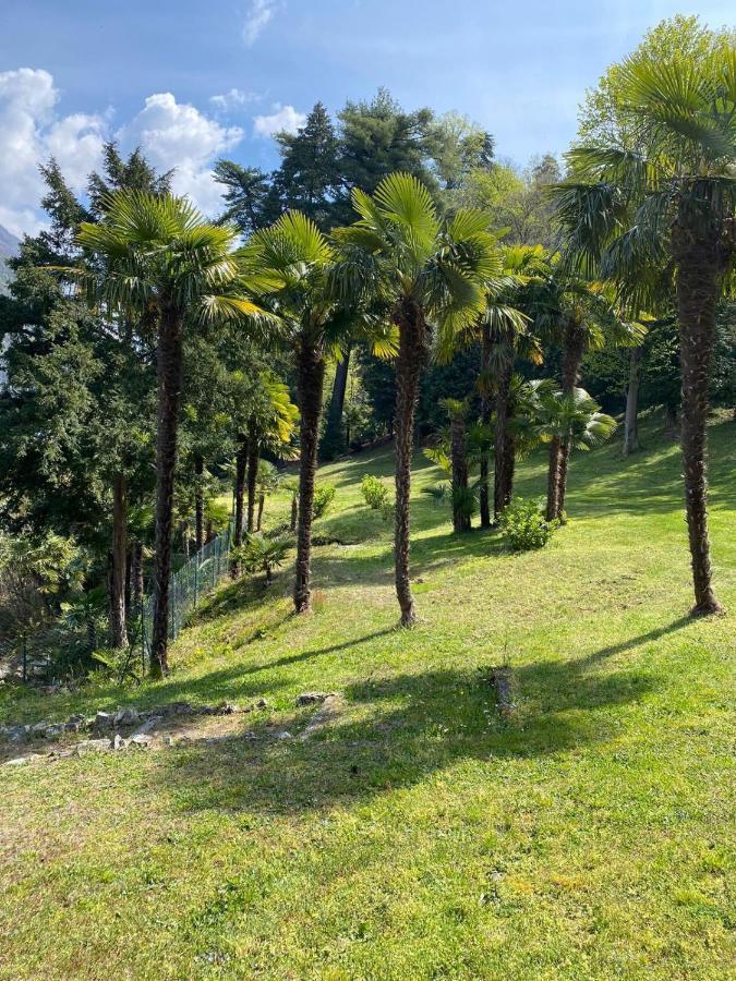
[[79, 244], [102, 261], [84, 278], [92, 301], [148, 317], [156, 325], [156, 556], [152, 675], [168, 671], [169, 578], [182, 384], [182, 331], [188, 320], [268, 318], [246, 299], [237, 257], [238, 232], [205, 221], [184, 198], [141, 191], [104, 201], [104, 220], [80, 227]]

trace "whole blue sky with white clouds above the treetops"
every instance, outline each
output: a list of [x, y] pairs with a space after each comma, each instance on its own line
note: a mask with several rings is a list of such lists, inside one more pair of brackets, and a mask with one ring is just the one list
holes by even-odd
[[109, 138], [214, 215], [218, 157], [269, 169], [274, 132], [379, 86], [519, 166], [558, 155], [586, 88], [678, 12], [736, 20], [732, 0], [0, 0], [0, 225], [37, 231], [38, 164], [82, 190]]

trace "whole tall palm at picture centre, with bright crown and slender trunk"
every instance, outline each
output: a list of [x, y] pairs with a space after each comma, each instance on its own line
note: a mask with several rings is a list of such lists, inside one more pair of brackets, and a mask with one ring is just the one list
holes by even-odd
[[338, 229], [342, 251], [337, 288], [347, 299], [384, 300], [399, 331], [396, 361], [396, 593], [401, 625], [415, 621], [409, 580], [409, 494], [414, 408], [432, 326], [467, 329], [485, 305], [484, 282], [497, 271], [495, 240], [481, 211], [441, 220], [427, 189], [393, 173], [370, 196], [352, 193], [358, 221]]

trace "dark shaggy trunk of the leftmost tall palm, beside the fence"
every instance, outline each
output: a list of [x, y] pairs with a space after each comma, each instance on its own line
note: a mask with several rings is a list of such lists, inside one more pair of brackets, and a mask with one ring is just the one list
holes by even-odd
[[158, 421], [156, 436], [156, 556], [154, 560], [154, 625], [150, 674], [168, 673], [169, 580], [171, 578], [171, 519], [177, 469], [177, 429], [181, 397], [181, 317], [164, 307], [158, 329], [156, 371]]

